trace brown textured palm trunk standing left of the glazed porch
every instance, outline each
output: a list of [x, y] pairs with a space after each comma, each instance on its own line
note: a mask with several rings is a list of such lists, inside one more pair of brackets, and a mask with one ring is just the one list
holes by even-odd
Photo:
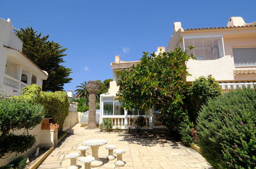
[[88, 129], [96, 128], [96, 92], [89, 92], [89, 119]]

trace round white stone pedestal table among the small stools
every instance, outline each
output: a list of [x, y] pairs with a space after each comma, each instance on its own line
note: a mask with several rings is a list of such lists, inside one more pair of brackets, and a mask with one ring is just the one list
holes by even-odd
[[95, 158], [95, 160], [91, 162], [92, 167], [101, 166], [103, 164], [102, 160], [100, 160], [100, 158], [98, 156], [98, 150], [99, 150], [100, 146], [107, 144], [107, 143], [108, 143], [107, 140], [104, 140], [104, 139], [83, 141], [83, 143], [82, 143], [83, 145], [91, 147], [92, 157]]

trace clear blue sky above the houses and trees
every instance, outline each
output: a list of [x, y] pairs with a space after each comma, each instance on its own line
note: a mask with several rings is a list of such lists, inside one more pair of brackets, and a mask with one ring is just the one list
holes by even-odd
[[65, 90], [88, 80], [112, 78], [110, 62], [139, 60], [142, 52], [167, 47], [173, 22], [184, 29], [226, 26], [229, 17], [256, 21], [256, 1], [2, 0], [0, 17], [14, 28], [33, 27], [68, 48], [64, 66], [73, 80]]

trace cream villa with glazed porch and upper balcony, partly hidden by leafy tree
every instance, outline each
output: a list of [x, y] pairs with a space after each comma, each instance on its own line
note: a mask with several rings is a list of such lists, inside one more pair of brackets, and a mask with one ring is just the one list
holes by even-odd
[[[223, 92], [244, 87], [253, 87], [256, 83], [256, 22], [247, 24], [242, 17], [230, 17], [226, 27], [183, 29], [181, 23], [174, 23], [173, 35], [167, 52], [176, 47], [192, 52], [196, 60], [187, 62], [188, 76], [191, 83], [200, 76], [215, 78]], [[162, 50], [160, 50], [162, 49]], [[164, 52], [159, 47], [156, 53]], [[140, 61], [122, 61], [115, 56], [111, 62], [113, 81], [110, 82], [108, 93], [101, 95], [100, 123], [104, 118], [111, 118], [114, 127], [125, 129], [134, 127], [134, 120], [139, 116], [146, 118], [145, 129], [162, 128], [157, 119], [160, 114], [154, 110], [132, 110], [122, 108], [122, 103], [114, 100], [119, 87], [116, 86], [115, 72], [136, 65]]]

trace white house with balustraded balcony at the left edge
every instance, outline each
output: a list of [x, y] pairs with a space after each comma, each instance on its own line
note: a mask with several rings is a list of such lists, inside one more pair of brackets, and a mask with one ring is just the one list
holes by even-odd
[[23, 42], [15, 35], [11, 19], [0, 18], [0, 92], [18, 96], [27, 85], [43, 85], [48, 73], [22, 53]]

